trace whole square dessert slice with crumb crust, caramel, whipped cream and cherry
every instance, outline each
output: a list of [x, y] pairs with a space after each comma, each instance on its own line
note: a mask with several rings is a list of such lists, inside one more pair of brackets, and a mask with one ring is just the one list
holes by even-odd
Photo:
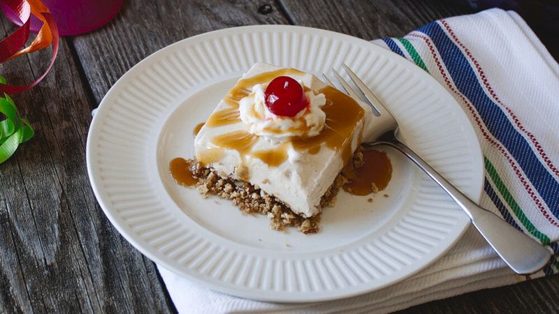
[[256, 63], [196, 135], [197, 188], [267, 214], [275, 229], [316, 232], [371, 117], [368, 105], [310, 73]]

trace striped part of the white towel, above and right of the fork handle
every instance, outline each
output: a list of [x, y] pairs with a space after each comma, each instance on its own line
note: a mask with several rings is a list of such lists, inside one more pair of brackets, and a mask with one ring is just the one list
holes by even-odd
[[559, 68], [521, 17], [487, 10], [374, 43], [430, 73], [467, 113], [484, 153], [481, 205], [557, 251]]

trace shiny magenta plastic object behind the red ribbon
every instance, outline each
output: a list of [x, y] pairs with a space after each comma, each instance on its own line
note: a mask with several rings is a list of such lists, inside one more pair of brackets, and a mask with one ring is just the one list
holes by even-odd
[[[60, 36], [78, 35], [102, 27], [112, 20], [123, 0], [43, 0], [55, 17]], [[2, 11], [18, 26], [22, 21], [3, 2]], [[43, 22], [31, 16], [31, 31], [37, 33]]]

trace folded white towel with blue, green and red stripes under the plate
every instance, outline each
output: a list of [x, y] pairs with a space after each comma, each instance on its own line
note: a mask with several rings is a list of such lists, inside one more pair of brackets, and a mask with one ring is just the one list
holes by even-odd
[[[486, 10], [373, 43], [433, 75], [456, 98], [485, 161], [481, 206], [559, 253], [559, 65], [514, 12]], [[182, 313], [386, 313], [557, 273], [516, 276], [470, 227], [444, 257], [405, 281], [319, 304], [273, 304], [213, 292], [159, 267]]]

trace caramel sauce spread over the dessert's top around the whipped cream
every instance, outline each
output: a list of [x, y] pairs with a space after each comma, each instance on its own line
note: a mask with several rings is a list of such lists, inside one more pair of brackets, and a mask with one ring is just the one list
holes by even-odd
[[[205, 125], [212, 128], [240, 122], [238, 110], [239, 101], [249, 96], [255, 84], [266, 84], [275, 77], [289, 74], [304, 75], [305, 73], [293, 68], [282, 68], [239, 80], [237, 84], [228, 91], [224, 98], [225, 103], [227, 103], [229, 107], [214, 112], [210, 118], [208, 118]], [[306, 90], [307, 89], [305, 89], [305, 91]], [[321, 108], [326, 113], [326, 125], [317, 136], [293, 137], [283, 144], [279, 144], [279, 146], [274, 149], [254, 151], [252, 154], [250, 151], [259, 138], [245, 130], [237, 130], [216, 136], [212, 138], [211, 142], [222, 149], [235, 149], [238, 151], [242, 157], [241, 167], [244, 167], [246, 155], [259, 158], [263, 160], [264, 163], [270, 165], [270, 167], [277, 167], [287, 159], [289, 147], [293, 147], [293, 149], [297, 151], [308, 151], [309, 154], [318, 154], [323, 144], [329, 149], [342, 151], [344, 165], [347, 165], [349, 159], [353, 155], [351, 140], [353, 139], [354, 132], [361, 133], [361, 130], [356, 130], [355, 127], [358, 121], [363, 118], [365, 110], [363, 110], [353, 98], [333, 87], [324, 87], [319, 90], [319, 93], [326, 96], [326, 105]], [[303, 121], [303, 125], [306, 127], [305, 121]], [[221, 151], [221, 155], [222, 154], [223, 151]], [[196, 158], [203, 164], [213, 163], [216, 161], [219, 154], [211, 155], [212, 156], [196, 156]]]

